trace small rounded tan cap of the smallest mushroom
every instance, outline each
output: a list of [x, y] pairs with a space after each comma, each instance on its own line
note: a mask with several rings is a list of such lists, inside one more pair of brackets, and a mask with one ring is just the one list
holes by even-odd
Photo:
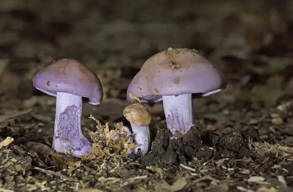
[[148, 126], [151, 122], [151, 115], [148, 109], [140, 103], [126, 106], [123, 110], [123, 115], [127, 121], [137, 126]]

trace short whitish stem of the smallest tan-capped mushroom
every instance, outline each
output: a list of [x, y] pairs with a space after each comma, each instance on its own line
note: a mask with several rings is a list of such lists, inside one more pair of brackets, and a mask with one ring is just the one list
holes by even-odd
[[150, 135], [148, 126], [138, 126], [130, 122], [132, 132], [134, 133], [134, 144], [138, 145], [133, 148], [133, 153], [136, 155], [146, 155], [150, 145]]

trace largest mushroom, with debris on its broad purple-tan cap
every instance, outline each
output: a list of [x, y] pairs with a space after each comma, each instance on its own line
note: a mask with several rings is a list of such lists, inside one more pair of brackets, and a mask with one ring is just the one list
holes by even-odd
[[127, 100], [163, 100], [167, 128], [172, 134], [178, 131], [185, 135], [194, 126], [192, 99], [226, 86], [222, 72], [197, 51], [168, 48], [146, 60], [127, 88]]

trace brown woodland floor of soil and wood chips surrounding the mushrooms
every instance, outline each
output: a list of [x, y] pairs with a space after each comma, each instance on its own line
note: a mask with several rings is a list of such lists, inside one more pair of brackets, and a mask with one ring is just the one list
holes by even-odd
[[[3, 1], [0, 192], [292, 192], [292, 7], [292, 0]], [[187, 135], [170, 139], [162, 103], [146, 104], [152, 146], [144, 157], [84, 160], [51, 150], [56, 98], [33, 87], [38, 70], [74, 58], [99, 76], [103, 103], [83, 105], [90, 138], [91, 114], [110, 128], [130, 127], [122, 114], [127, 86], [148, 57], [169, 47], [196, 49], [228, 81], [193, 100], [196, 125]]]

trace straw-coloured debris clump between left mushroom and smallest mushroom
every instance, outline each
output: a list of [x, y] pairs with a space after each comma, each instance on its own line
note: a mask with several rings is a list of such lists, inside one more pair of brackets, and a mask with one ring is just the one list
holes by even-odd
[[[129, 140], [132, 135], [127, 136], [126, 131], [123, 130], [123, 123], [115, 123], [113, 136], [117, 136], [117, 139], [113, 139], [108, 122], [102, 125], [92, 115], [89, 118], [97, 123], [97, 130], [89, 132], [89, 136], [93, 141], [93, 149], [88, 156], [82, 158], [82, 162], [88, 162], [87, 165], [96, 168], [99, 173], [110, 171], [132, 162], [132, 159], [128, 157], [128, 149], [134, 148], [135, 144]], [[123, 131], [125, 134], [121, 134]]]

